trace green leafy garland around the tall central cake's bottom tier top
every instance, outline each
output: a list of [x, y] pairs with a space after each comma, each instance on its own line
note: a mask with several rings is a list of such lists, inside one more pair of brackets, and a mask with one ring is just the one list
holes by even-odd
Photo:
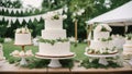
[[62, 38], [59, 38], [59, 39], [43, 39], [43, 38], [40, 38], [38, 41], [55, 45], [55, 42], [66, 42], [66, 41], [69, 41], [69, 40], [67, 38], [65, 38], [65, 39], [62, 39]]

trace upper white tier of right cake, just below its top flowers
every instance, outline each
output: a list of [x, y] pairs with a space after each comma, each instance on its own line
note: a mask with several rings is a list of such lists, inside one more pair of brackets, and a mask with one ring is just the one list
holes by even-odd
[[110, 32], [94, 32], [94, 40], [98, 40], [100, 38], [109, 38]]

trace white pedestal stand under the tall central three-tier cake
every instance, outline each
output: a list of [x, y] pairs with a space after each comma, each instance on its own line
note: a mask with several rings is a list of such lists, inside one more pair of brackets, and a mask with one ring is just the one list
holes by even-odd
[[58, 55], [58, 57], [56, 57], [56, 55], [43, 55], [43, 54], [36, 53], [35, 57], [38, 59], [51, 59], [51, 62], [48, 64], [50, 67], [61, 67], [62, 64], [59, 63], [59, 60], [61, 59], [72, 59], [75, 57], [75, 53], [70, 53], [67, 55]]

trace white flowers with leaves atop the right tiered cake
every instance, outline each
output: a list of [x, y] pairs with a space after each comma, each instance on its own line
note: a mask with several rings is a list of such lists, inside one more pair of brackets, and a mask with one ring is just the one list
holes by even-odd
[[95, 28], [95, 32], [111, 32], [111, 27], [108, 24], [100, 24], [97, 25], [97, 27]]

